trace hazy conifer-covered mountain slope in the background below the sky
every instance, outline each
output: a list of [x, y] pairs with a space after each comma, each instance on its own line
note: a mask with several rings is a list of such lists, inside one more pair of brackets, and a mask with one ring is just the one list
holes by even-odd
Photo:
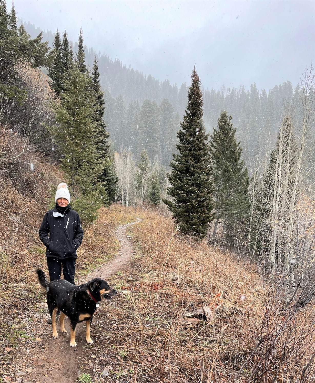
[[[25, 28], [31, 36], [40, 31], [30, 23], [25, 23]], [[44, 32], [43, 39], [52, 44], [53, 33]], [[74, 50], [76, 48], [77, 43]], [[90, 69], [95, 54], [93, 48], [86, 48], [86, 62]], [[154, 79], [150, 74], [138, 72], [106, 54], [98, 53], [97, 59], [100, 82], [105, 91], [104, 119], [115, 149], [130, 148], [136, 157], [147, 149], [151, 159], [156, 156], [162, 165], [168, 167], [171, 154], [176, 151], [176, 132], [187, 105], [186, 84]], [[207, 130], [212, 131], [220, 111], [227, 110], [233, 117], [236, 136], [241, 141], [250, 173], [258, 164], [265, 165], [284, 111], [296, 109], [300, 98], [299, 86], [287, 81], [269, 91], [258, 89], [255, 83], [250, 89], [242, 85], [232, 89], [223, 85], [220, 90], [210, 90], [210, 87], [211, 84], [203, 84]], [[296, 114], [295, 120], [299, 129], [300, 119]], [[153, 147], [154, 150], [151, 149]], [[313, 154], [310, 156], [313, 158]]]

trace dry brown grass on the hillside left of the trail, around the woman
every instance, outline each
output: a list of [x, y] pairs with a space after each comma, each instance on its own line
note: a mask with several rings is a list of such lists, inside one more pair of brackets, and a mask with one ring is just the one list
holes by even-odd
[[[34, 147], [0, 126], [0, 311], [18, 296], [34, 293], [34, 269], [46, 270], [38, 229], [52, 198], [51, 187], [62, 178], [56, 165], [48, 164]], [[112, 229], [135, 217], [132, 209], [120, 206], [100, 213], [95, 224], [85, 229], [78, 252], [79, 274], [115, 254]]]

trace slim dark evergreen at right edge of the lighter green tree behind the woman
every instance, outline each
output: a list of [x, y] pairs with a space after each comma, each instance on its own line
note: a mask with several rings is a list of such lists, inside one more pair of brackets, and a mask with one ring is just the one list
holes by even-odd
[[109, 201], [114, 201], [118, 178], [115, 172], [113, 156], [110, 154], [110, 147], [108, 144], [109, 134], [106, 131], [106, 125], [103, 121], [105, 100], [104, 93], [100, 86], [100, 74], [98, 72], [96, 57], [92, 69], [92, 92], [95, 97], [94, 122], [97, 154], [100, 161], [104, 164], [103, 171], [98, 177], [98, 181], [101, 182], [107, 190]]

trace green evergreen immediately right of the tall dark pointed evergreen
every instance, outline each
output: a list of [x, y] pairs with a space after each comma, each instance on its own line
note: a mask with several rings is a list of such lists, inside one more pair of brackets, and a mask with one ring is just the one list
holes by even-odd
[[220, 227], [221, 237], [233, 246], [240, 239], [240, 229], [244, 228], [249, 214], [249, 178], [231, 119], [232, 116], [226, 111], [221, 111], [218, 126], [213, 128], [210, 153], [213, 161], [216, 211], [212, 238], [216, 237]]

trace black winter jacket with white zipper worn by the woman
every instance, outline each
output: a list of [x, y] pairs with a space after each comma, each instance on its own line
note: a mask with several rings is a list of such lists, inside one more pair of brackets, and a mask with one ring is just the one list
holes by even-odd
[[83, 234], [79, 214], [69, 205], [64, 214], [56, 208], [48, 210], [39, 228], [39, 239], [46, 246], [46, 257], [59, 259], [77, 258], [76, 250], [82, 243]]

